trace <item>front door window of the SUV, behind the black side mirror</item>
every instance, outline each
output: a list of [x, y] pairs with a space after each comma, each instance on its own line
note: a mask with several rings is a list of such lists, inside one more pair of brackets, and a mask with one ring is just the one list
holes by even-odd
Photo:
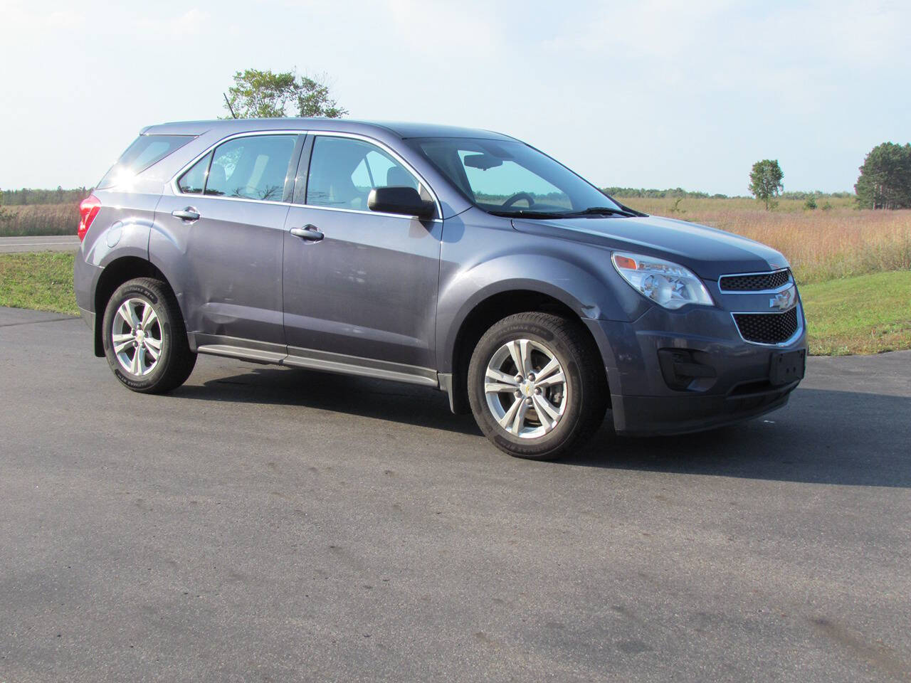
[[365, 211], [370, 190], [386, 187], [414, 188], [431, 199], [411, 171], [376, 145], [328, 136], [313, 140], [305, 203]]

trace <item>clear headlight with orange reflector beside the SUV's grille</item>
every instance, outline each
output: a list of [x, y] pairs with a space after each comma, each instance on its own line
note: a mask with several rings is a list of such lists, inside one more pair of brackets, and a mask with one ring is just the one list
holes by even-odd
[[615, 251], [610, 260], [620, 277], [634, 290], [666, 309], [679, 309], [688, 303], [714, 305], [702, 280], [681, 265], [619, 251]]

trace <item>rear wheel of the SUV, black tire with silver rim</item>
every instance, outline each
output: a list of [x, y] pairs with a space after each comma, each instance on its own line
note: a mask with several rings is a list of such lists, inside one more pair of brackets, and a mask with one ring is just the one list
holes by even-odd
[[176, 389], [196, 364], [177, 300], [161, 280], [120, 285], [107, 301], [101, 335], [114, 376], [134, 392]]

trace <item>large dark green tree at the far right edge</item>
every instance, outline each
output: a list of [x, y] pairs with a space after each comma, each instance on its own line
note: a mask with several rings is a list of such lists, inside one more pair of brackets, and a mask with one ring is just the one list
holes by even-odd
[[855, 184], [862, 209], [911, 208], [911, 145], [884, 142], [864, 158]]

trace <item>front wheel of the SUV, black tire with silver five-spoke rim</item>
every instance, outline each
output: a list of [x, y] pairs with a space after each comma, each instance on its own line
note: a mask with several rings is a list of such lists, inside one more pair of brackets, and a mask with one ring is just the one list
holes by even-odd
[[[517, 360], [527, 363], [523, 371]], [[477, 425], [501, 451], [554, 460], [598, 430], [608, 382], [598, 349], [578, 321], [529, 311], [497, 322], [477, 342], [468, 401]]]

